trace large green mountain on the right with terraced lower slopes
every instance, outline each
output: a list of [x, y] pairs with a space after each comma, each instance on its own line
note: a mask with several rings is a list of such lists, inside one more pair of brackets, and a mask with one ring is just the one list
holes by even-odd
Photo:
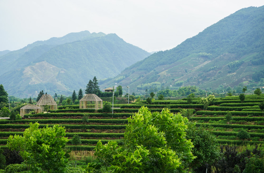
[[144, 93], [145, 89], [162, 86], [216, 89], [248, 82], [255, 72], [264, 69], [263, 24], [264, 6], [243, 8], [177, 47], [153, 53], [127, 67], [100, 86], [118, 82], [129, 85], [131, 92]]

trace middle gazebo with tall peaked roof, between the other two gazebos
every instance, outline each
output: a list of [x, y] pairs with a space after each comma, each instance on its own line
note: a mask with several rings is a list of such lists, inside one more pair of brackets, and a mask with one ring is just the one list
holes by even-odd
[[44, 112], [48, 109], [57, 110], [57, 104], [50, 94], [43, 94], [37, 102], [37, 106], [41, 108], [41, 112]]

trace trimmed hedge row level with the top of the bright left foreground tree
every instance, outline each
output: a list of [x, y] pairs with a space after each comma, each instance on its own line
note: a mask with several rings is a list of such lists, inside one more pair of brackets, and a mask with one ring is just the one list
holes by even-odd
[[[46, 127], [46, 124], [40, 124], [39, 128]], [[53, 124], [48, 124], [49, 127], [54, 126]], [[61, 124], [66, 129], [126, 129], [126, 125], [77, 125], [77, 124]], [[0, 124], [0, 129], [27, 129], [29, 124]]]

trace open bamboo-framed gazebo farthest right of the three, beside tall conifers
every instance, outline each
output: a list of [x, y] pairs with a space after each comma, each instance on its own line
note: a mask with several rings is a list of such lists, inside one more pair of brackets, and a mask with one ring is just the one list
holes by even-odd
[[103, 100], [95, 94], [85, 94], [80, 100], [80, 109], [101, 109], [103, 108]]

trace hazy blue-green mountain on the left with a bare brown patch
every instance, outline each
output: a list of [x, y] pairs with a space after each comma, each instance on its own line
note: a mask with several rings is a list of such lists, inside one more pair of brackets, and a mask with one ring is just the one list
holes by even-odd
[[9, 95], [71, 94], [94, 76], [111, 78], [150, 53], [116, 34], [70, 33], [0, 56], [0, 83]]

